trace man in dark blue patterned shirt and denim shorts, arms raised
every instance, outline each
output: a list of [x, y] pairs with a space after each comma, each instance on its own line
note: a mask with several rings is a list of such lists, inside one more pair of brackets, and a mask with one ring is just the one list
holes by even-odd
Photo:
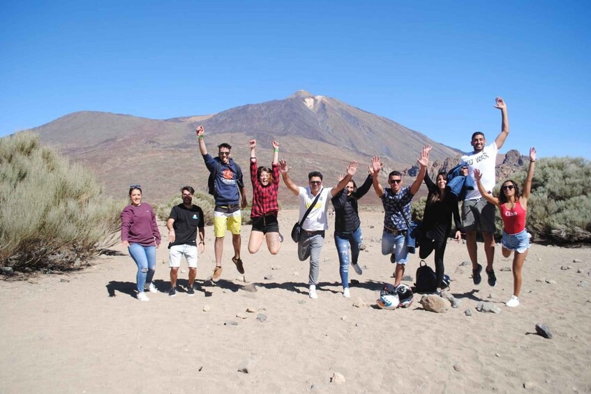
[[[421, 188], [421, 183], [427, 172], [429, 151], [431, 145], [424, 146], [421, 157], [417, 159], [421, 169], [410, 187], [403, 187], [402, 174], [398, 171], [390, 172], [388, 183], [390, 188], [384, 189], [380, 185], [377, 174], [383, 165], [379, 156], [373, 156], [370, 169], [373, 172], [373, 189], [384, 205], [384, 232], [382, 232], [382, 255], [391, 255], [390, 262], [396, 263], [394, 271], [394, 287], [398, 287], [404, 275], [405, 264], [408, 262], [406, 234], [407, 223], [410, 223], [410, 201]], [[403, 216], [404, 215], [404, 216]]]

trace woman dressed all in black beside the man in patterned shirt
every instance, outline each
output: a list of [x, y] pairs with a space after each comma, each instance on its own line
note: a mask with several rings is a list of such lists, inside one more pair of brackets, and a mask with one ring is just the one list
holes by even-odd
[[435, 178], [435, 183], [433, 183], [427, 173], [425, 174], [425, 184], [429, 190], [429, 195], [423, 214], [422, 235], [419, 239], [419, 257], [426, 259], [435, 250], [435, 275], [437, 276], [435, 293], [441, 295], [445, 269], [443, 255], [447, 238], [449, 238], [451, 232], [451, 215], [454, 215], [456, 225], [456, 241], [460, 241], [462, 225], [458, 210], [458, 199], [449, 189], [446, 189], [447, 174], [440, 172]]

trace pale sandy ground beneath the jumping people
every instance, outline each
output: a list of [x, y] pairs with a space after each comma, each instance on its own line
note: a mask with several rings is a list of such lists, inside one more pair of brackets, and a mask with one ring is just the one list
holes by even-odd
[[[533, 245], [521, 305], [507, 308], [513, 279], [500, 268], [511, 260], [498, 247], [498, 286], [486, 275], [474, 286], [470, 267], [459, 266], [465, 245], [450, 240], [446, 272], [460, 307], [427, 312], [415, 296], [408, 309], [380, 310], [375, 300], [394, 271], [380, 253], [383, 213], [361, 213], [364, 273], [351, 271], [351, 298], [342, 296], [329, 229], [317, 300], [308, 298], [308, 262], [288, 236], [296, 215], [280, 213], [285, 242], [276, 256], [248, 255], [244, 228], [244, 278], [227, 237], [215, 285], [207, 228], [193, 297], [184, 292], [185, 263], [177, 296], [167, 296], [166, 248], [157, 254], [160, 291], [147, 303], [135, 299], [135, 264], [121, 245], [113, 249], [124, 255], [100, 256], [82, 271], [0, 282], [0, 393], [591, 392], [589, 248]], [[407, 273], [414, 277], [418, 264], [413, 255]], [[477, 312], [479, 301], [500, 314]], [[553, 339], [534, 334], [539, 322]], [[245, 364], [248, 373], [239, 372]], [[344, 383], [331, 382], [335, 372]]]

